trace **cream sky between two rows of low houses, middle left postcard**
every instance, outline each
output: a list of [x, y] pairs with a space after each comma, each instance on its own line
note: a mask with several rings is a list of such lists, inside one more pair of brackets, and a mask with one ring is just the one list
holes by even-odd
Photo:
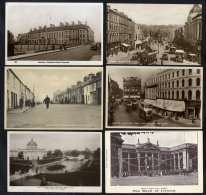
[[38, 101], [48, 95], [53, 98], [56, 90], [66, 90], [71, 85], [76, 85], [77, 81], [90, 73], [96, 74], [101, 68], [14, 68], [12, 69], [19, 79], [33, 91]]

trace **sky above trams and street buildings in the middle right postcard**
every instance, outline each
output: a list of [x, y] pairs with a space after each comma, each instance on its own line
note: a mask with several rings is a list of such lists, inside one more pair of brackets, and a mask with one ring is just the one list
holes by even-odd
[[146, 67], [134, 67], [134, 68], [120, 68], [113, 67], [108, 68], [108, 73], [112, 80], [118, 82], [119, 87], [123, 89], [123, 78], [124, 77], [139, 77], [141, 78], [141, 84], [144, 85], [146, 79], [156, 74], [160, 69], [158, 68], [146, 68]]

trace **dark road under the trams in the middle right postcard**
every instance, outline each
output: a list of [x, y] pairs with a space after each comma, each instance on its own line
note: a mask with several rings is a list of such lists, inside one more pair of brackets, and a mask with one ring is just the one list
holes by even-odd
[[113, 126], [147, 126], [154, 127], [155, 121], [158, 122], [160, 127], [185, 127], [186, 124], [181, 124], [179, 121], [168, 120], [159, 115], [153, 114], [153, 118], [150, 121], [145, 120], [139, 116], [139, 110], [133, 110], [132, 112], [126, 112], [124, 105], [120, 105], [119, 109], [115, 112]]

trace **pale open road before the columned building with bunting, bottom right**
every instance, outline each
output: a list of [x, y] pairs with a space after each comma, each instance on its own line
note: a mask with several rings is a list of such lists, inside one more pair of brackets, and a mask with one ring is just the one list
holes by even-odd
[[111, 179], [111, 185], [120, 186], [160, 186], [160, 185], [197, 185], [198, 174], [192, 173], [191, 175], [168, 175], [168, 176], [129, 176]]

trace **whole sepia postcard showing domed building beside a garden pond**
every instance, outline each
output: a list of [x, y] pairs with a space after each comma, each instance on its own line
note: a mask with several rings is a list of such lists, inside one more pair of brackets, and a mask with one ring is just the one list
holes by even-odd
[[8, 191], [101, 192], [101, 150], [97, 132], [9, 132]]

